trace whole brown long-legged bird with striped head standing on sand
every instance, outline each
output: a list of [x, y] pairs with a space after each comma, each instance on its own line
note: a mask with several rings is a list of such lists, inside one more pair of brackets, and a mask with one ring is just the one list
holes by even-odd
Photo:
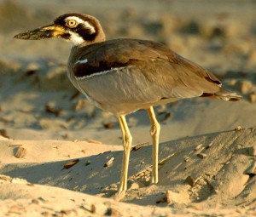
[[127, 191], [132, 136], [125, 116], [147, 110], [151, 123], [152, 174], [157, 184], [160, 123], [154, 106], [195, 97], [238, 101], [241, 96], [222, 88], [218, 77], [162, 43], [133, 38], [106, 40], [102, 25], [89, 14], [69, 13], [53, 24], [23, 31], [15, 38], [61, 38], [73, 43], [67, 77], [86, 99], [115, 115], [123, 135], [119, 192]]

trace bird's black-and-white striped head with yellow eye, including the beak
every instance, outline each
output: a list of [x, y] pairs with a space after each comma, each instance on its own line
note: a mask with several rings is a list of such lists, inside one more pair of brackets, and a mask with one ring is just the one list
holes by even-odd
[[15, 35], [15, 38], [25, 40], [40, 40], [52, 37], [65, 39], [75, 45], [105, 41], [105, 34], [99, 20], [87, 14], [63, 14], [57, 17], [51, 25]]

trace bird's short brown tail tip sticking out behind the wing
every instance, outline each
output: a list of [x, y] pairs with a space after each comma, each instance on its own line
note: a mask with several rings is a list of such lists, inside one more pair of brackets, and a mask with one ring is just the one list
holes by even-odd
[[217, 93], [204, 93], [201, 97], [210, 98], [210, 99], [221, 99], [225, 101], [239, 101], [241, 99], [241, 95], [238, 95], [234, 92], [230, 92], [227, 89], [220, 89]]

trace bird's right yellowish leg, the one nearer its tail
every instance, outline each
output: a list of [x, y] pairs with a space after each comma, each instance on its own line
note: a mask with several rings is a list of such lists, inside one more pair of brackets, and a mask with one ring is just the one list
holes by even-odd
[[152, 168], [151, 183], [156, 184], [158, 183], [158, 146], [159, 146], [160, 124], [156, 120], [156, 117], [154, 115], [154, 109], [152, 106], [150, 106], [148, 109], [148, 116], [151, 122], [150, 134], [153, 140], [153, 147], [152, 147], [153, 168]]

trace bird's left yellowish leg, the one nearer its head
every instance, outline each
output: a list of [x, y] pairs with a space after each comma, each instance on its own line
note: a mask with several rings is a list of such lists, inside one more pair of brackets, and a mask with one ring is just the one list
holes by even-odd
[[126, 191], [127, 190], [127, 176], [128, 176], [128, 166], [129, 166], [129, 158], [130, 158], [130, 152], [131, 152], [131, 133], [128, 128], [128, 125], [125, 120], [125, 116], [120, 115], [119, 118], [119, 124], [122, 130], [123, 134], [123, 140], [124, 140], [124, 155], [123, 155], [123, 163], [122, 163], [122, 171], [121, 171], [121, 180], [120, 180], [120, 186], [119, 186], [119, 192]]

